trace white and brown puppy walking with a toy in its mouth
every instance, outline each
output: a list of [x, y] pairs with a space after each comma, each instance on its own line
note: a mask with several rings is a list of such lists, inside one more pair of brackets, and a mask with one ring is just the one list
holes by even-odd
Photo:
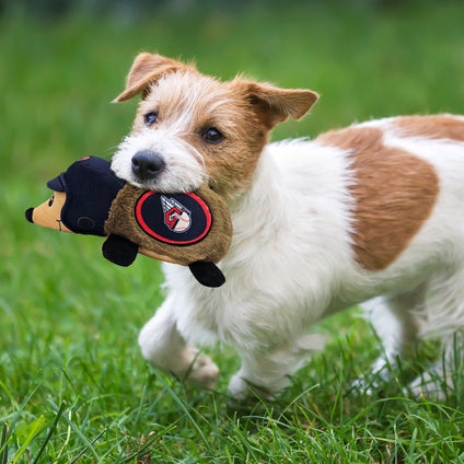
[[315, 92], [221, 82], [148, 53], [115, 102], [139, 94], [114, 172], [166, 193], [207, 183], [234, 229], [221, 288], [163, 265], [169, 293], [139, 337], [151, 364], [212, 387], [218, 368], [196, 346], [219, 340], [242, 359], [228, 393], [272, 396], [320, 346], [306, 328], [363, 302], [384, 344], [374, 369], [418, 337], [440, 338], [453, 361], [464, 327], [463, 117], [392, 117], [268, 143]]

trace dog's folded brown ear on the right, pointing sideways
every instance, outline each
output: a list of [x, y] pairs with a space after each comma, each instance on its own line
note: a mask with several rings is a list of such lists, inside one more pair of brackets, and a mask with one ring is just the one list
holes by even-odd
[[289, 117], [302, 118], [316, 103], [318, 95], [311, 90], [279, 89], [269, 83], [258, 83], [237, 78], [233, 81], [242, 95], [252, 104], [259, 119], [271, 129]]

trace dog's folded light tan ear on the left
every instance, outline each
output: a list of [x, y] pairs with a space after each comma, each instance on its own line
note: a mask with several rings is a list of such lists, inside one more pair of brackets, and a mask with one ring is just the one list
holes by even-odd
[[113, 100], [113, 103], [125, 102], [139, 93], [142, 93], [144, 97], [144, 93], [152, 82], [169, 72], [186, 71], [187, 69], [193, 69], [193, 67], [161, 55], [140, 54], [130, 68], [126, 89]]

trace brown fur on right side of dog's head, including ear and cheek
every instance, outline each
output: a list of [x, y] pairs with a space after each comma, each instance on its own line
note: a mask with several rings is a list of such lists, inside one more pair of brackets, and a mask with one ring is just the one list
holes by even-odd
[[315, 103], [317, 95], [311, 91], [278, 89], [241, 78], [220, 83], [220, 86], [223, 104], [217, 100], [211, 102], [209, 107], [217, 108], [204, 126], [218, 127], [224, 134], [224, 140], [208, 146], [197, 137], [190, 142], [205, 154], [210, 185], [219, 193], [230, 194], [251, 182], [274, 126], [289, 117], [300, 119]]

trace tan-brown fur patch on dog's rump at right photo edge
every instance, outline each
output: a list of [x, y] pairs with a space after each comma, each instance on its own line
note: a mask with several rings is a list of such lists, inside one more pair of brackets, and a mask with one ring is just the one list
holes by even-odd
[[393, 120], [404, 137], [426, 137], [430, 139], [450, 139], [464, 141], [464, 118], [448, 115], [403, 116]]

